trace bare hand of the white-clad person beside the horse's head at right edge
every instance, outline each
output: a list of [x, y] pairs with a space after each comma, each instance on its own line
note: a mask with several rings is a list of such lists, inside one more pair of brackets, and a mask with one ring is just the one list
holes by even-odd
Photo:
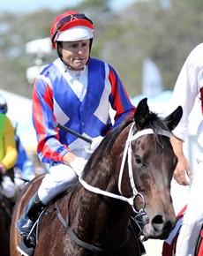
[[174, 178], [178, 184], [189, 185], [186, 175], [192, 178], [192, 170], [186, 157], [178, 156], [177, 168], [174, 171]]

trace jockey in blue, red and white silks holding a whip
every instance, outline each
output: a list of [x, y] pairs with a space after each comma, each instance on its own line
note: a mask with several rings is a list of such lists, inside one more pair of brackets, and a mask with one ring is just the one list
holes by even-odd
[[[50, 38], [58, 58], [35, 79], [33, 92], [37, 152], [49, 171], [17, 222], [23, 238], [42, 209], [81, 174], [103, 136], [135, 110], [115, 69], [90, 57], [94, 25], [85, 14], [67, 11], [56, 17]], [[110, 106], [116, 111], [114, 125]], [[56, 121], [92, 139], [92, 144], [54, 128]], [[34, 237], [29, 238], [35, 245]], [[23, 251], [20, 245], [18, 249]]]

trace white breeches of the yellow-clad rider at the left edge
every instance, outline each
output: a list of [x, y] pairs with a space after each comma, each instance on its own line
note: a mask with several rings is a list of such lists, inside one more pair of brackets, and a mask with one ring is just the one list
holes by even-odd
[[4, 176], [2, 185], [0, 186], [0, 192], [4, 197], [11, 199], [17, 192], [16, 185], [11, 181], [11, 177]]

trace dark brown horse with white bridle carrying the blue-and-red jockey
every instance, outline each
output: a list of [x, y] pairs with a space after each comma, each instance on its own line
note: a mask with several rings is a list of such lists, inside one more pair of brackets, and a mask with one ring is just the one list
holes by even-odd
[[[170, 135], [182, 114], [178, 107], [159, 117], [149, 110], [147, 98], [140, 101], [135, 113], [102, 139], [82, 176], [45, 210], [34, 256], [140, 256], [138, 231], [130, 228], [132, 214], [143, 223], [143, 239], [168, 237], [176, 223], [170, 182], [177, 156]], [[12, 256], [19, 255], [16, 222], [42, 177], [27, 184], [16, 203]]]

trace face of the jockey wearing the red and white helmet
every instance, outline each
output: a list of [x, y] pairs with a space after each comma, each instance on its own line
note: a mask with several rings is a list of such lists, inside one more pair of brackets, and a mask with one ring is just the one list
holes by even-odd
[[83, 70], [89, 58], [90, 40], [62, 41], [61, 54], [70, 70]]

